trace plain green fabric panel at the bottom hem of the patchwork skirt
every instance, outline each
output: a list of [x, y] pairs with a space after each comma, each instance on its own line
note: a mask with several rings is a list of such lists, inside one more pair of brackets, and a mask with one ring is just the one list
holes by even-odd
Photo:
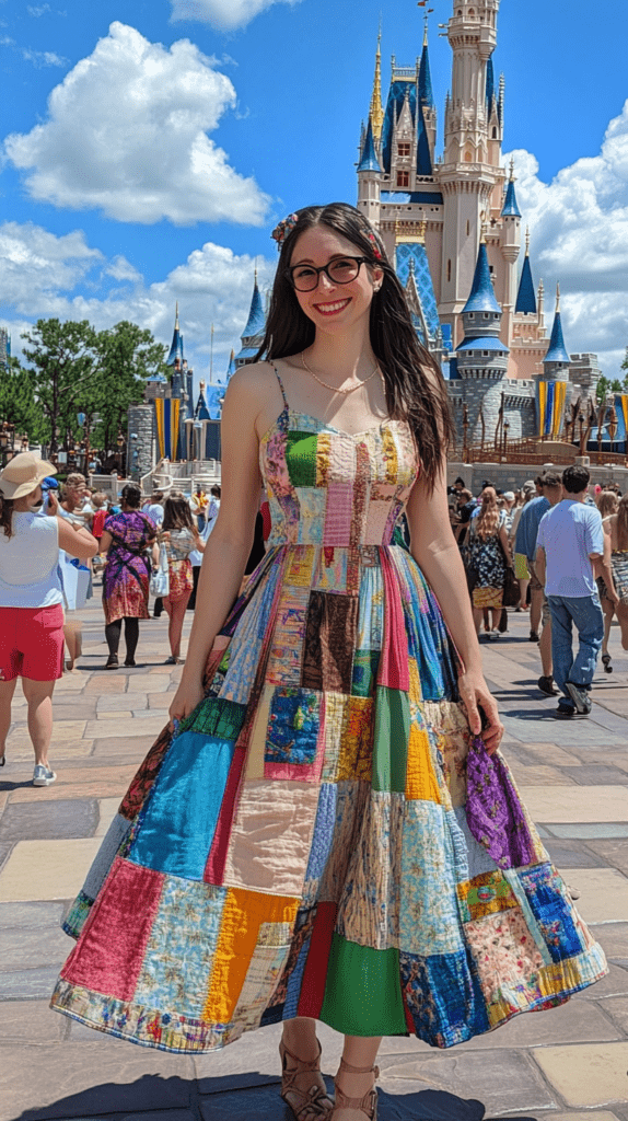
[[347, 1036], [403, 1036], [399, 949], [372, 949], [335, 934], [319, 1019]]

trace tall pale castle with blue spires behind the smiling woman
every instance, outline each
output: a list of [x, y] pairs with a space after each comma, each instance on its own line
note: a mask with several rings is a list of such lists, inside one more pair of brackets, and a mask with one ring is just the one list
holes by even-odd
[[514, 166], [502, 164], [505, 86], [493, 63], [498, 10], [499, 0], [454, 0], [442, 155], [427, 17], [414, 66], [393, 56], [385, 109], [378, 39], [357, 164], [357, 205], [395, 263], [469, 442], [493, 441], [499, 426], [510, 438], [559, 436], [566, 406], [594, 399], [601, 372], [597, 355], [566, 352], [559, 296], [547, 337], [527, 234], [518, 269], [522, 214]]

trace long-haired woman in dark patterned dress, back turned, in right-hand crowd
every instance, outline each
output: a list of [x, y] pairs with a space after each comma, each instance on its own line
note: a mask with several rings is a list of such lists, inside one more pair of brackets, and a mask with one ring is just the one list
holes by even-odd
[[504, 596], [506, 557], [510, 563], [510, 546], [506, 529], [506, 513], [497, 504], [494, 487], [485, 487], [478, 512], [471, 518], [469, 564], [478, 574], [474, 587], [474, 622], [479, 634], [485, 609], [493, 611], [493, 630], [489, 638], [499, 638], [499, 617]]

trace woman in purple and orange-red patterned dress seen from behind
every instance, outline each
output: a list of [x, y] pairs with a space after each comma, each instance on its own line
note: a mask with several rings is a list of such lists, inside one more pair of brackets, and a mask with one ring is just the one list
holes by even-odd
[[135, 483], [122, 488], [120, 513], [110, 516], [101, 537], [101, 553], [106, 556], [103, 576], [103, 609], [109, 658], [105, 669], [116, 669], [118, 649], [124, 620], [125, 666], [135, 665], [140, 619], [148, 612], [151, 554], [157, 530], [154, 522], [140, 510], [142, 492]]

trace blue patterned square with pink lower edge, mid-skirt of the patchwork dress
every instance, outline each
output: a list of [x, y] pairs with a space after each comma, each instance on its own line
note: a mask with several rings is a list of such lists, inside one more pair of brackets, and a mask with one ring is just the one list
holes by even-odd
[[275, 689], [269, 716], [264, 760], [311, 766], [316, 760], [321, 694], [285, 686]]

